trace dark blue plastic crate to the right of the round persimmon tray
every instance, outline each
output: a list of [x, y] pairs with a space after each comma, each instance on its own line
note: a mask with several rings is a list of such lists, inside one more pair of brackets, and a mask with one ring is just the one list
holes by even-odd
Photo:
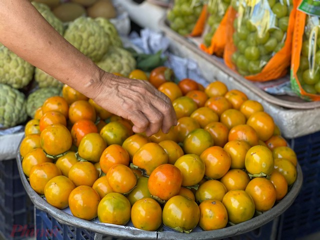
[[279, 239], [295, 239], [320, 231], [320, 131], [288, 140], [303, 173], [303, 185], [281, 215]]

